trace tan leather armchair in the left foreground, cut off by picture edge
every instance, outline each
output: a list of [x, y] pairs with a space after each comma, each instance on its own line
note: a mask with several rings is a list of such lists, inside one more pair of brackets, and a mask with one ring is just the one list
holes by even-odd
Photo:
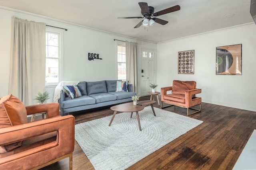
[[[12, 95], [0, 98], [0, 169], [39, 169], [67, 157], [72, 169], [74, 116], [60, 116], [58, 103], [22, 105]], [[46, 119], [26, 123], [24, 114], [42, 112]]]

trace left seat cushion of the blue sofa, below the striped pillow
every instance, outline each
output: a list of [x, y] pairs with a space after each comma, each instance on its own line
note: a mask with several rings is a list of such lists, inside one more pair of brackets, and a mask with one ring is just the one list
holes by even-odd
[[86, 95], [82, 95], [80, 98], [76, 99], [67, 99], [62, 102], [62, 108], [67, 109], [71, 107], [78, 107], [84, 105], [96, 104], [96, 100]]

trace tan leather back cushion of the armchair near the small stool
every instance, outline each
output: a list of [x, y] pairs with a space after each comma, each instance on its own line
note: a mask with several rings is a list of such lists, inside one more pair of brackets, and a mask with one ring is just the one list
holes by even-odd
[[195, 81], [180, 81], [173, 80], [172, 82], [172, 94], [184, 94], [186, 90], [193, 90], [196, 88]]

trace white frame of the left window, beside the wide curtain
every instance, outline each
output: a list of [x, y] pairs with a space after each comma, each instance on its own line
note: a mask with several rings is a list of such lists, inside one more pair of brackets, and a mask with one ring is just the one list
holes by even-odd
[[[46, 57], [45, 56], [45, 61], [46, 59], [58, 59], [58, 82], [53, 82], [53, 83], [45, 83], [45, 86], [56, 86], [63, 80], [63, 33], [64, 31], [59, 30], [59, 29], [54, 29], [54, 28], [48, 28], [46, 27], [46, 33], [52, 33], [52, 34], [58, 34], [58, 53], [59, 57], [58, 58], [52, 58], [52, 57]], [[46, 45], [45, 45], [46, 46]], [[46, 66], [45, 66], [46, 69]], [[46, 72], [46, 70], [45, 70]]]

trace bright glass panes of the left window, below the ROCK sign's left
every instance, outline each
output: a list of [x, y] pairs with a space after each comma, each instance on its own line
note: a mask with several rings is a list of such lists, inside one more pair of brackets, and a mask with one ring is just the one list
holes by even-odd
[[60, 33], [46, 31], [46, 85], [60, 82]]

